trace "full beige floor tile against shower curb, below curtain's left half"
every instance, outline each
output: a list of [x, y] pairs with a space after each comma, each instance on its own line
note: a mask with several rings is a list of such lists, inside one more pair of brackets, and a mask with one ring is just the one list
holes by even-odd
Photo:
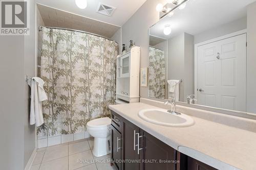
[[57, 147], [48, 147], [45, 151], [44, 158], [42, 159], [42, 162], [47, 162], [53, 159], [61, 158], [68, 156], [68, 149], [69, 145], [58, 145]]

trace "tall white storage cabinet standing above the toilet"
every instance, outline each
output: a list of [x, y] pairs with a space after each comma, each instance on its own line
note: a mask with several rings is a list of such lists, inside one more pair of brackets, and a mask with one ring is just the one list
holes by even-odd
[[140, 47], [117, 56], [116, 101], [120, 103], [139, 102]]

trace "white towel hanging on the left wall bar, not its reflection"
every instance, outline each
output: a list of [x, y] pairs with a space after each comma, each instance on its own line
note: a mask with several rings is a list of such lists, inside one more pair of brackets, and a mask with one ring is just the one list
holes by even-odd
[[47, 100], [47, 94], [44, 89], [45, 82], [38, 77], [33, 77], [28, 80], [28, 84], [31, 88], [30, 125], [36, 124], [38, 127], [44, 123], [42, 101]]

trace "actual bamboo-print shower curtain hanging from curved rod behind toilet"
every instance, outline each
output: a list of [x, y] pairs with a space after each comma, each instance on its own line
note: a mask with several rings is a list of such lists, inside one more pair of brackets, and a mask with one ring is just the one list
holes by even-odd
[[117, 53], [118, 44], [102, 37], [42, 29], [40, 72], [48, 101], [38, 136], [83, 132], [89, 120], [110, 115]]

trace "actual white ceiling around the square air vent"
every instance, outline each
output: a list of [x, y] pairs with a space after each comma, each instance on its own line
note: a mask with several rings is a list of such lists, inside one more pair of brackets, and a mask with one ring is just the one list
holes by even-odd
[[[75, 0], [36, 0], [37, 3], [52, 8], [64, 10], [99, 21], [122, 26], [146, 0], [87, 0], [87, 8], [79, 9]], [[112, 16], [106, 16], [96, 12], [99, 3], [115, 7]]]

